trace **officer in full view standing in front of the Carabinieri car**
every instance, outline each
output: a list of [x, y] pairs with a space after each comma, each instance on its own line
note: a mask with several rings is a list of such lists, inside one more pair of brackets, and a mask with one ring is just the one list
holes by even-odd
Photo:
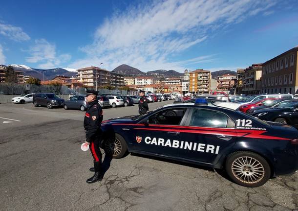
[[101, 122], [103, 120], [103, 110], [97, 100], [97, 91], [87, 90], [86, 101], [88, 103], [85, 118], [84, 128], [86, 131], [86, 144], [89, 145], [91, 154], [93, 156], [94, 169], [90, 168], [90, 171], [95, 171], [93, 177], [87, 179], [87, 183], [94, 183], [103, 179], [102, 172], [102, 153], [99, 145], [101, 141]]

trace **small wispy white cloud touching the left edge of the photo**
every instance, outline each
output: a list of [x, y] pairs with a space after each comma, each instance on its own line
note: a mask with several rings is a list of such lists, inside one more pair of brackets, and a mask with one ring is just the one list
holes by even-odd
[[27, 41], [30, 40], [28, 34], [23, 32], [21, 27], [13, 26], [10, 24], [0, 23], [0, 35], [8, 37], [14, 41]]

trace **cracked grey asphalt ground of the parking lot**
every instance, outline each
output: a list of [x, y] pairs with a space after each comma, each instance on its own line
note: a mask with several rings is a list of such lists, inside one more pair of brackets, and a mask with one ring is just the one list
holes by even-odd
[[[80, 148], [84, 114], [0, 105], [0, 210], [298, 210], [298, 174], [244, 188], [220, 171], [135, 154], [105, 158], [103, 181], [86, 184], [92, 158]], [[104, 119], [134, 114], [137, 105], [104, 109]]]

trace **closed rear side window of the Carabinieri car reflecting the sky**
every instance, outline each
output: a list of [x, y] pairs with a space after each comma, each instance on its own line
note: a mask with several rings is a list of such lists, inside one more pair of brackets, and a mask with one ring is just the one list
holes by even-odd
[[229, 117], [221, 112], [193, 109], [190, 126], [227, 127]]

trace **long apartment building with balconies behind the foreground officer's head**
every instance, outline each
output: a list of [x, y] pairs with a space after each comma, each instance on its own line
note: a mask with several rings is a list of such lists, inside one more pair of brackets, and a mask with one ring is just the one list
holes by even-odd
[[78, 69], [77, 77], [84, 86], [97, 90], [105, 86], [112, 86], [116, 89], [124, 86], [124, 75], [110, 72], [98, 67], [87, 67]]

